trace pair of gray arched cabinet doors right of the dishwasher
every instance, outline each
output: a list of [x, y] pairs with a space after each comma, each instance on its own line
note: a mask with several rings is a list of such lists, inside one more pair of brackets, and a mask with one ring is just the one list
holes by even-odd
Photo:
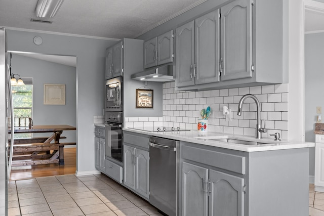
[[244, 215], [244, 179], [182, 162], [182, 215]]

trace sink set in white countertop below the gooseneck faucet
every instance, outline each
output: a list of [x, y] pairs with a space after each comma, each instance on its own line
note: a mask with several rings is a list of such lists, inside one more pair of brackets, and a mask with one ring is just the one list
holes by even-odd
[[237, 138], [217, 138], [217, 137], [195, 137], [197, 139], [209, 140], [209, 141], [219, 141], [224, 143], [233, 143], [233, 144], [242, 144], [242, 145], [250, 145], [250, 146], [274, 146], [277, 145], [277, 142], [268, 141], [268, 140], [259, 140], [259, 139], [237, 139]]

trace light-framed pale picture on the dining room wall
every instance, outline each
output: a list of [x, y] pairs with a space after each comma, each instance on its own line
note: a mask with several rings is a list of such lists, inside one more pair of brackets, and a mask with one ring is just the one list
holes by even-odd
[[65, 84], [44, 84], [44, 105], [65, 105]]

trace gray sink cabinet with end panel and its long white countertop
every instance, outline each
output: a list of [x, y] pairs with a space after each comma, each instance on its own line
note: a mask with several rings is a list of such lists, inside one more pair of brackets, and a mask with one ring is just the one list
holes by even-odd
[[308, 215], [308, 158], [314, 143], [123, 130], [180, 141], [179, 215]]

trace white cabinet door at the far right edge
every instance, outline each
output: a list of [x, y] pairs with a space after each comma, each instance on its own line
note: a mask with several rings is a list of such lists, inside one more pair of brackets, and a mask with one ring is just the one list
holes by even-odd
[[324, 187], [324, 143], [315, 144], [315, 186]]

